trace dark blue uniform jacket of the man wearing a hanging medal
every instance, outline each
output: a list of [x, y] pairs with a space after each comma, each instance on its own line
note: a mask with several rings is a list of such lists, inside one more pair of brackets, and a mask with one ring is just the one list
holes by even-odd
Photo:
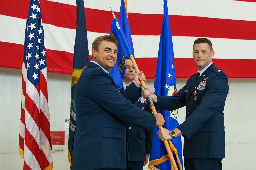
[[[205, 88], [200, 87], [203, 81]], [[196, 101], [195, 87], [200, 89]], [[174, 96], [157, 96], [157, 110], [175, 110], [186, 105], [186, 120], [177, 127], [184, 133], [184, 157], [224, 158], [223, 110], [227, 94], [227, 75], [211, 64], [197, 81], [196, 74], [191, 76]]]

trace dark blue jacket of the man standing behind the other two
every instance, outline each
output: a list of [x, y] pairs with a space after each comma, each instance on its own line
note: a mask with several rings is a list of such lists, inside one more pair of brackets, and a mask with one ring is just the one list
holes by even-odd
[[[124, 90], [119, 86], [118, 89], [121, 93], [127, 90], [127, 88]], [[133, 104], [136, 104], [142, 110], [152, 113], [148, 100], [146, 100], [146, 103], [143, 103], [141, 99], [143, 98], [137, 99]], [[152, 153], [153, 133], [128, 123], [127, 131], [129, 161], [145, 161], [146, 154]]]

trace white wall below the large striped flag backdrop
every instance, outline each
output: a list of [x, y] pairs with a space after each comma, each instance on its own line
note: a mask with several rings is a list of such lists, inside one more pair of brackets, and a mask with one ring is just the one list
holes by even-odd
[[[187, 79], [177, 79], [177, 89]], [[229, 79], [229, 94], [225, 105], [226, 156], [223, 169], [256, 167], [256, 79]], [[147, 80], [154, 86], [154, 80]], [[48, 73], [48, 99], [51, 131], [64, 131], [69, 119], [71, 75]], [[5, 170], [23, 169], [23, 159], [18, 154], [21, 101], [21, 70], [0, 68], [0, 167]], [[179, 118], [185, 120], [185, 108], [179, 109]], [[65, 145], [53, 145], [55, 170], [68, 170], [68, 132]], [[183, 139], [183, 138], [182, 138]], [[56, 151], [55, 150], [63, 151]], [[146, 166], [144, 169], [147, 169]]]

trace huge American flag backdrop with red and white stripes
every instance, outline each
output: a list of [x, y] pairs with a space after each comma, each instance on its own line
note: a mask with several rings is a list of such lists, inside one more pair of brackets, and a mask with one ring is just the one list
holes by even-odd
[[[29, 0], [0, 2], [0, 67], [22, 68], [28, 4]], [[120, 4], [118, 0], [84, 1], [89, 49], [96, 37], [109, 34], [113, 20], [110, 6], [119, 16]], [[40, 0], [40, 5], [48, 72], [72, 74], [76, 1]], [[127, 0], [127, 7], [137, 65], [147, 78], [155, 78], [163, 1]], [[255, 78], [255, 9], [256, 0], [170, 0], [176, 77], [188, 78], [196, 73], [193, 42], [207, 37], [215, 50], [213, 62], [229, 78]]]

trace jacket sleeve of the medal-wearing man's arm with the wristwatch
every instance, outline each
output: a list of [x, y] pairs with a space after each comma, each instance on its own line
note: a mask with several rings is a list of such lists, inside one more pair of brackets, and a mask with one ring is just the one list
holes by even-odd
[[[225, 99], [228, 94], [228, 78], [225, 73], [216, 74], [208, 83], [200, 105], [185, 122], [177, 128], [186, 139], [197, 132], [213, 114], [223, 114]], [[224, 102], [224, 103], [223, 103]]]

